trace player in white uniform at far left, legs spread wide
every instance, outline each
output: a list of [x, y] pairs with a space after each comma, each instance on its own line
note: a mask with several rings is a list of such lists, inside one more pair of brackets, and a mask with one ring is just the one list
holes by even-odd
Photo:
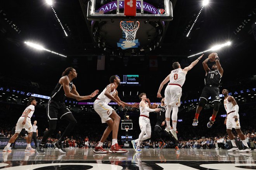
[[15, 134], [10, 138], [7, 146], [3, 149], [4, 152], [6, 151], [12, 151], [12, 147], [10, 147], [11, 143], [14, 143], [16, 138], [19, 136], [19, 133], [23, 128], [28, 132], [28, 138], [26, 139], [27, 141], [27, 147], [25, 151], [35, 151], [30, 145], [31, 143], [31, 138], [32, 138], [32, 124], [30, 118], [33, 116], [33, 113], [35, 111], [35, 106], [36, 106], [36, 99], [31, 98], [28, 102], [28, 107], [24, 110], [22, 113], [21, 117], [19, 118], [17, 124], [16, 124], [16, 129], [15, 129]]

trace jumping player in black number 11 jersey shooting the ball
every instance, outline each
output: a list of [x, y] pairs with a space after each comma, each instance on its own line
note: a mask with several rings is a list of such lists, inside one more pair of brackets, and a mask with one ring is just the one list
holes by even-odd
[[202, 90], [202, 94], [200, 97], [200, 101], [196, 108], [195, 119], [193, 120], [193, 126], [197, 126], [198, 116], [202, 110], [202, 107], [207, 103], [208, 98], [211, 97], [211, 103], [213, 104], [213, 115], [210, 117], [209, 122], [207, 123], [207, 127], [211, 128], [215, 121], [215, 117], [218, 113], [220, 107], [220, 80], [223, 75], [223, 69], [220, 65], [220, 58], [217, 53], [215, 54], [215, 62], [211, 69], [208, 67], [207, 62], [209, 58], [206, 58], [202, 63], [204, 66], [204, 70], [206, 71], [206, 76], [204, 78], [205, 87]]

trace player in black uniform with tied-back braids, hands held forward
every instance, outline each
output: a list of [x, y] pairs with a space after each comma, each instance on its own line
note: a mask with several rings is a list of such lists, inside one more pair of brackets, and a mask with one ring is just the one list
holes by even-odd
[[64, 100], [66, 97], [80, 100], [92, 99], [95, 95], [99, 93], [99, 90], [95, 90], [91, 95], [80, 96], [76, 91], [76, 86], [73, 84], [72, 80], [76, 78], [76, 70], [72, 67], [66, 68], [62, 73], [62, 77], [57, 83], [55, 89], [50, 95], [50, 99], [47, 104], [47, 118], [49, 122], [49, 130], [43, 135], [43, 139], [36, 148], [38, 154], [44, 154], [43, 145], [47, 141], [48, 137], [54, 133], [56, 129], [58, 116], [60, 119], [66, 119], [69, 121], [64, 133], [61, 138], [54, 143], [54, 145], [59, 149], [61, 153], [66, 153], [65, 149], [62, 146], [64, 138], [72, 131], [76, 125], [76, 119], [74, 118], [72, 112], [66, 107]]

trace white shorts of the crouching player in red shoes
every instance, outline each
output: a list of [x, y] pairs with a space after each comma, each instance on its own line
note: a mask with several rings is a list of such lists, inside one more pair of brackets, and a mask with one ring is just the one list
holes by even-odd
[[107, 105], [106, 102], [97, 99], [93, 104], [93, 108], [99, 114], [102, 123], [106, 123], [106, 121], [111, 119], [109, 116], [114, 109]]

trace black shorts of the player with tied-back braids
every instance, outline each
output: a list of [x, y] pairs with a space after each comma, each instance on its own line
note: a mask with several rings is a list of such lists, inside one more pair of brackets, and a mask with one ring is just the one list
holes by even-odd
[[48, 101], [46, 111], [48, 120], [57, 120], [58, 116], [61, 119], [62, 116], [68, 113], [72, 114], [72, 112], [66, 107], [64, 102], [57, 102], [52, 100], [52, 98]]

